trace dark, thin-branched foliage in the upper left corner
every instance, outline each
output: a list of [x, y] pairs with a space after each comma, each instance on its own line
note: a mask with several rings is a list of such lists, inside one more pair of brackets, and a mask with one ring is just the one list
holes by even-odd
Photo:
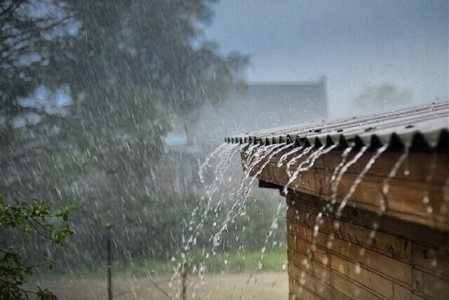
[[68, 34], [73, 22], [61, 1], [0, 1], [1, 115], [12, 117], [25, 110], [17, 98], [36, 88], [36, 71], [48, 63], [56, 37]]

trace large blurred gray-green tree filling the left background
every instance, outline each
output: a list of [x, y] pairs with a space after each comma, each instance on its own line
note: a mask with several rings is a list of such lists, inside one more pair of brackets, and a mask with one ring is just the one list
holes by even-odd
[[[41, 0], [17, 1], [15, 13], [32, 22]], [[248, 58], [222, 56], [216, 45], [202, 39], [201, 25], [210, 22], [213, 2], [45, 1], [44, 11], [62, 10], [54, 15], [67, 17], [64, 24], [71, 30], [48, 37], [34, 28], [46, 44], [33, 46], [41, 59], [27, 66], [32, 88], [10, 80], [22, 71], [5, 71], [2, 107], [19, 110], [0, 112], [0, 164], [8, 178], [0, 189], [20, 198], [83, 201], [91, 205], [87, 211], [103, 220], [109, 207], [144, 199], [153, 181], [152, 166], [165, 151], [162, 138], [170, 130], [169, 117], [176, 114], [188, 123], [201, 105], [222, 101], [241, 83]], [[58, 24], [58, 18], [47, 21]], [[14, 129], [13, 120], [25, 110], [18, 105], [20, 97], [36, 86], [53, 92], [65, 86], [72, 100], [68, 112], [50, 113], [35, 101], [26, 108], [41, 115], [41, 121]]]

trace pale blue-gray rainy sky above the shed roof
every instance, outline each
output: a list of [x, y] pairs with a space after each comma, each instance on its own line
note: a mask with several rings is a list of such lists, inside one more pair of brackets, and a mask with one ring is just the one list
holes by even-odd
[[[252, 57], [249, 81], [328, 77], [333, 115], [389, 83], [413, 103], [448, 95], [447, 0], [222, 0], [206, 37]], [[413, 104], [410, 103], [410, 104]]]

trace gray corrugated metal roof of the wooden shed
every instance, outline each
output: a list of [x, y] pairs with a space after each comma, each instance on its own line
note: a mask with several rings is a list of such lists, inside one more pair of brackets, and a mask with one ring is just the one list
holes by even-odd
[[379, 115], [334, 119], [243, 133], [225, 138], [227, 143], [295, 143], [304, 147], [321, 145], [437, 148], [449, 152], [449, 101], [395, 110]]

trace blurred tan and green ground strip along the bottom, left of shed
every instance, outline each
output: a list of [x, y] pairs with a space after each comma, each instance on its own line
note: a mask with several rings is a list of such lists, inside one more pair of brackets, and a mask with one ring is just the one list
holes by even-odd
[[[188, 275], [189, 299], [286, 299], [288, 296], [287, 254], [285, 247], [276, 247], [264, 254], [260, 252], [229, 252], [205, 259], [201, 252], [190, 253], [191, 268], [203, 264], [206, 274]], [[178, 262], [168, 259], [134, 259], [132, 263], [115, 263], [112, 269], [114, 299], [163, 300], [179, 297], [180, 279], [172, 280]], [[191, 270], [192, 271], [192, 270]], [[154, 285], [156, 283], [157, 287]], [[107, 299], [106, 268], [76, 271], [64, 275], [43, 275], [29, 282], [30, 289], [46, 287], [60, 299]]]

